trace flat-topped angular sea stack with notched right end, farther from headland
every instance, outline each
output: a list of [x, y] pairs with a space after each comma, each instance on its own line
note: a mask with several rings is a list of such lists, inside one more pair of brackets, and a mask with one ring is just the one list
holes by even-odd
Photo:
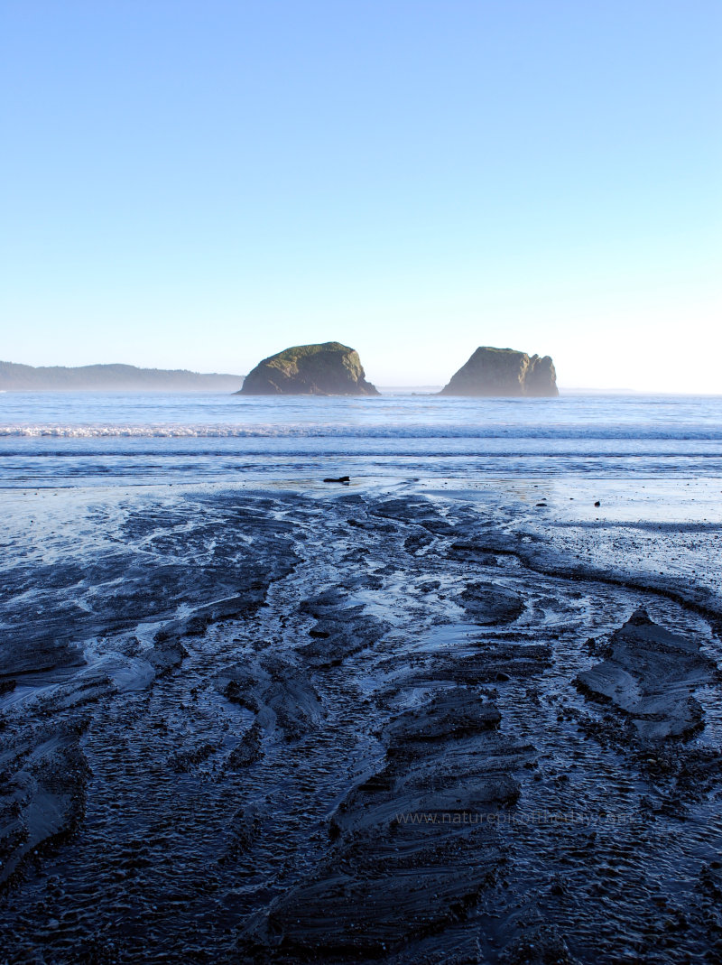
[[452, 376], [442, 396], [558, 396], [557, 373], [548, 355], [514, 348], [477, 348]]

